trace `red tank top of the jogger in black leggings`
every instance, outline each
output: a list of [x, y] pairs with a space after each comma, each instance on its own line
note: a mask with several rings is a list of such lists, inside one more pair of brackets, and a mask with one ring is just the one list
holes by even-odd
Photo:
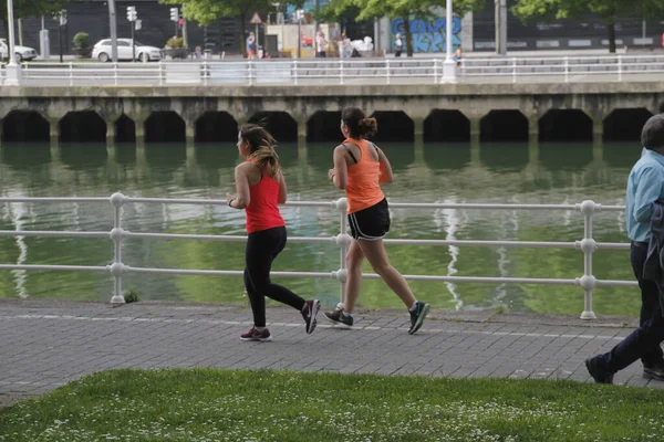
[[[251, 161], [250, 159], [248, 161]], [[255, 186], [249, 186], [251, 201], [247, 206], [247, 233], [284, 227], [283, 218], [277, 203], [279, 182], [267, 172]]]

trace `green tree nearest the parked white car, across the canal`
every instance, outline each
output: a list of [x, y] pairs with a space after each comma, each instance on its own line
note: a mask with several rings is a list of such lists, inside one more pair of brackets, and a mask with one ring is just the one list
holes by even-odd
[[[272, 9], [272, 0], [159, 0], [165, 4], [181, 4], [183, 14], [190, 20], [207, 25], [222, 18], [236, 18], [240, 23], [240, 45], [247, 52], [245, 33], [247, 20], [255, 11]], [[302, 3], [290, 1], [290, 4]]]

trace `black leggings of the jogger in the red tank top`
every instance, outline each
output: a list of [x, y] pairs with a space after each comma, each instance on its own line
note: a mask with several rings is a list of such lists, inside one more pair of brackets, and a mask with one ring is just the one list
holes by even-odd
[[272, 261], [286, 246], [286, 228], [261, 230], [249, 234], [245, 267], [245, 287], [251, 302], [253, 325], [266, 326], [266, 296], [302, 311], [304, 299], [270, 281]]

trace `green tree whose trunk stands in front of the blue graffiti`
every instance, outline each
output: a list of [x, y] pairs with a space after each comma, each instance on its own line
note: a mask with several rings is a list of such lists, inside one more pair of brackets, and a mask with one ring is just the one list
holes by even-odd
[[[445, 0], [331, 0], [323, 10], [323, 17], [342, 17], [349, 11], [359, 10], [356, 20], [388, 17], [403, 19], [406, 38], [406, 52], [413, 56], [413, 32], [411, 19], [434, 17], [434, 8], [445, 8]], [[454, 12], [463, 15], [468, 11], [478, 11], [485, 6], [484, 0], [455, 0]]]

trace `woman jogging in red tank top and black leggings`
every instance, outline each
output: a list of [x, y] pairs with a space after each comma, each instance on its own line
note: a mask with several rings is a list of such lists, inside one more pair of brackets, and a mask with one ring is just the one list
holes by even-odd
[[274, 150], [274, 138], [263, 127], [247, 125], [238, 135], [238, 150], [246, 161], [236, 167], [237, 196], [227, 193], [228, 206], [247, 212], [245, 287], [253, 313], [253, 327], [242, 340], [272, 340], [266, 327], [266, 296], [297, 308], [304, 318], [307, 334], [315, 328], [318, 299], [304, 301], [284, 286], [270, 281], [272, 262], [286, 246], [286, 223], [278, 204], [288, 190]]

